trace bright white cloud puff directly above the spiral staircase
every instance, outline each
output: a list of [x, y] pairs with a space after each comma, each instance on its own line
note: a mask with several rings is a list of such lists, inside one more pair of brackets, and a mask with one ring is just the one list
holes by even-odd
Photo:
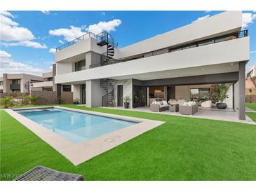
[[99, 34], [103, 31], [106, 31], [106, 32], [115, 31], [116, 27], [121, 25], [121, 23], [122, 22], [119, 19], [110, 20], [109, 22], [101, 21], [101, 22], [98, 22], [97, 24], [89, 25], [88, 32], [92, 32], [93, 34]]

